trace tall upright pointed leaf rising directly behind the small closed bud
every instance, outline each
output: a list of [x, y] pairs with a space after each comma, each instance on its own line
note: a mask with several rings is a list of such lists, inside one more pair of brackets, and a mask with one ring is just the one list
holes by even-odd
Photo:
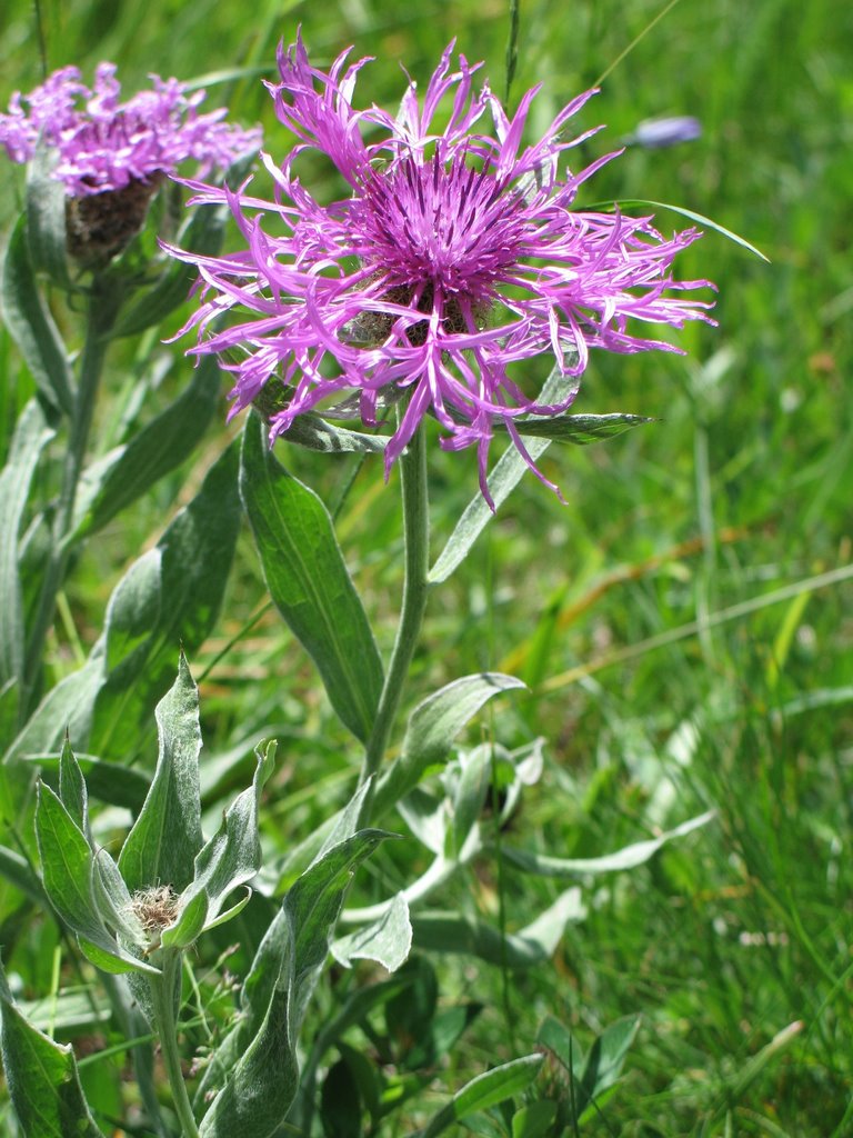
[[180, 893], [192, 881], [193, 860], [204, 844], [198, 688], [183, 652], [177, 679], [155, 715], [159, 739], [157, 768], [142, 810], [122, 848], [118, 868], [132, 892], [162, 884]]

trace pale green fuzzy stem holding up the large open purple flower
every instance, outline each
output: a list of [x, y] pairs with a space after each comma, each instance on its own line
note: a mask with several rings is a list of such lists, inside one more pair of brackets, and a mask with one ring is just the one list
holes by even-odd
[[[405, 578], [403, 611], [397, 627], [394, 651], [386, 673], [386, 682], [376, 709], [373, 731], [367, 740], [361, 783], [375, 775], [388, 748], [388, 740], [397, 716], [403, 688], [408, 676], [426, 608], [429, 585], [426, 574], [430, 561], [429, 489], [426, 480], [426, 443], [420, 427], [399, 459], [400, 489], [403, 492], [403, 529], [405, 542]], [[375, 778], [362, 806], [361, 825], [370, 822]]]

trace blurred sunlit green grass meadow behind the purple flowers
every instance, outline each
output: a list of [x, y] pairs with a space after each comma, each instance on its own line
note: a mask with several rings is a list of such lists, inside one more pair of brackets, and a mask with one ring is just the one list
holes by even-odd
[[[251, 22], [213, 0], [44, 0], [41, 8], [50, 69], [75, 63], [89, 76], [98, 60], [114, 59], [127, 90], [151, 71], [221, 75], [208, 101], [263, 121], [273, 154], [288, 140], [257, 77], [272, 77], [275, 43], [290, 41], [297, 23], [317, 65], [349, 43], [376, 56], [362, 100], [394, 107], [399, 63], [423, 83], [454, 35], [504, 88], [508, 20], [497, 0], [425, 0], [404, 13], [389, 0], [258, 3]], [[516, 978], [508, 995], [498, 970], [452, 972], [448, 996], [464, 989], [488, 1007], [447, 1085], [508, 1057], [513, 1042], [527, 1049], [547, 1012], [588, 1039], [638, 1011], [644, 1023], [623, 1085], [589, 1132], [843, 1138], [853, 1132], [853, 587], [810, 579], [853, 561], [853, 15], [839, 0], [682, 0], [649, 26], [662, 8], [528, 0], [513, 99], [543, 82], [544, 124], [610, 71], [585, 119], [608, 130], [585, 157], [646, 117], [697, 115], [699, 141], [629, 150], [587, 188], [587, 201], [682, 205], [742, 233], [771, 264], [709, 233], [679, 272], [718, 282], [719, 328], [686, 330], [685, 357], [594, 356], [578, 410], [661, 422], [606, 446], [549, 451], [546, 472], [569, 505], [532, 479], [520, 488], [433, 603], [411, 696], [486, 666], [528, 681], [530, 695], [488, 723], [510, 747], [548, 740], [545, 784], [525, 799], [517, 842], [589, 856], [707, 807], [718, 818], [649, 866], [599, 880], [587, 891], [586, 922], [553, 966]], [[0, 59], [3, 104], [40, 81], [28, 0], [2, 6]], [[5, 168], [6, 229], [20, 183]], [[659, 221], [664, 230], [682, 224], [670, 213]], [[19, 402], [28, 380], [0, 343], [5, 404]], [[130, 397], [122, 363], [103, 446]], [[221, 445], [217, 431], [88, 550], [53, 644], [57, 677], [97, 637], [132, 552], [189, 496], [187, 480], [198, 484]], [[292, 464], [328, 494], [341, 477], [309, 455]], [[437, 549], [474, 488], [472, 457], [436, 447]], [[392, 488], [368, 464], [341, 518], [386, 648], [399, 585], [396, 510]], [[798, 588], [782, 601], [737, 608], [789, 585]], [[262, 600], [247, 535], [221, 634], [197, 670]], [[284, 741], [267, 810], [271, 852], [304, 836], [345, 793], [355, 756], [272, 616], [212, 669], [202, 712], [213, 752], [271, 725]], [[378, 868], [401, 872], [381, 859]], [[494, 866], [457, 888], [458, 905], [489, 920], [503, 891], [511, 927], [556, 893], [545, 882], [499, 879]], [[49, 937], [44, 926], [27, 935], [27, 979], [38, 987], [49, 982]], [[754, 1062], [793, 1023], [802, 1028], [787, 1045]]]

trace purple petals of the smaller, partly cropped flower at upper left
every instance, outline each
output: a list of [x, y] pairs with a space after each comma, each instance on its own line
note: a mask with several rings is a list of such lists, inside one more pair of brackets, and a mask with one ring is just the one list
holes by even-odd
[[0, 114], [0, 145], [11, 160], [27, 162], [43, 139], [57, 151], [56, 176], [81, 198], [156, 182], [188, 158], [206, 176], [260, 145], [259, 131], [223, 122], [224, 108], [199, 114], [205, 92], [190, 94], [174, 79], [152, 75], [150, 91], [121, 102], [115, 73], [114, 64], [100, 64], [90, 91], [76, 67], [65, 67], [30, 94], [16, 92]]

